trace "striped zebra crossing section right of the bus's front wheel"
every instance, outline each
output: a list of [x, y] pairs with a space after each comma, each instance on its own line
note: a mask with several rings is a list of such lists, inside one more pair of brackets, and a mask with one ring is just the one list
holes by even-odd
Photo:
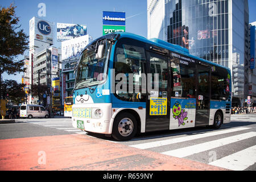
[[[127, 145], [192, 160], [198, 160], [200, 155], [202, 158], [205, 158], [205, 156], [210, 158], [211, 154], [215, 154], [216, 159], [205, 160], [206, 163], [230, 170], [243, 171], [256, 163], [256, 132], [251, 131], [251, 129], [251, 127], [235, 127], [209, 130], [198, 134], [183, 134], [180, 137], [149, 139], [153, 140], [151, 142], [148, 142], [148, 139], [134, 140], [128, 142]], [[230, 145], [233, 147], [231, 151], [228, 150]], [[199, 160], [199, 162], [205, 161], [203, 159]]]

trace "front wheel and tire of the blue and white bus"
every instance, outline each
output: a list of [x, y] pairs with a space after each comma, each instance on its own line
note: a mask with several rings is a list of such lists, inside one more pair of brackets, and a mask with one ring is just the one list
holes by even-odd
[[131, 113], [118, 114], [114, 119], [112, 137], [118, 141], [130, 140], [137, 133], [137, 120]]

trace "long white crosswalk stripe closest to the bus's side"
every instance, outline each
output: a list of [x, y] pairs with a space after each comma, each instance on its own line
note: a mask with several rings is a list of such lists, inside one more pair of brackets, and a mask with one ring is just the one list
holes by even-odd
[[180, 138], [172, 138], [172, 139], [160, 140], [160, 141], [155, 141], [155, 142], [134, 144], [134, 145], [131, 145], [130, 147], [135, 147], [135, 148], [140, 148], [140, 149], [160, 147], [160, 146], [165, 146], [165, 145], [168, 145], [168, 144], [186, 142], [188, 140], [194, 140], [194, 139], [205, 138], [205, 137], [212, 137], [212, 136], [215, 136], [215, 135], [232, 133], [232, 132], [235, 132], [235, 131], [242, 131], [242, 130], [247, 130], [247, 129], [250, 129], [250, 128], [249, 127], [238, 127], [236, 129], [213, 131], [213, 132], [210, 132], [210, 133], [195, 134], [195, 135], [192, 135], [192, 136], [186, 136], [186, 137], [180, 137]]

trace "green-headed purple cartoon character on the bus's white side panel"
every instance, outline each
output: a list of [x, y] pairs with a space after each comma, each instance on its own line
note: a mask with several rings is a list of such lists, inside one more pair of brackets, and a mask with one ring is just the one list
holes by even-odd
[[174, 106], [172, 106], [172, 117], [175, 119], [178, 119], [179, 126], [185, 125], [185, 120], [187, 120], [187, 114], [188, 112], [185, 111], [185, 109], [181, 108], [181, 105], [178, 101], [175, 102]]

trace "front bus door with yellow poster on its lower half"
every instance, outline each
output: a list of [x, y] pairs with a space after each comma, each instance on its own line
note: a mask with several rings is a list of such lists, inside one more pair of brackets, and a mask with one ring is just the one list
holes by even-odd
[[150, 61], [147, 61], [146, 132], [168, 130], [171, 101], [169, 58], [148, 51], [147, 60]]

